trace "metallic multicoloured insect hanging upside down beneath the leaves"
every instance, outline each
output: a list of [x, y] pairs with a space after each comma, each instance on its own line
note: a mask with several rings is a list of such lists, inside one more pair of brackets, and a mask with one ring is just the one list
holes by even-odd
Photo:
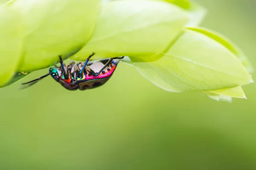
[[65, 65], [61, 56], [59, 56], [61, 67], [49, 68], [48, 74], [39, 77], [38, 79], [22, 83], [22, 85], [26, 85], [25, 88], [27, 88], [34, 85], [39, 80], [51, 75], [53, 79], [68, 90], [74, 91], [79, 89], [83, 91], [99, 87], [105, 84], [116, 70], [119, 60], [114, 59], [122, 59], [124, 57], [115, 57], [110, 59], [101, 59], [96, 62], [89, 62], [90, 58], [94, 54], [95, 53], [91, 54], [84, 63], [73, 62], [70, 65]]

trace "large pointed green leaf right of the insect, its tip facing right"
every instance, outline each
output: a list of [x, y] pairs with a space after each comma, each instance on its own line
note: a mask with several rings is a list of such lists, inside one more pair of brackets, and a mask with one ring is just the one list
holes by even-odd
[[201, 31], [184, 29], [162, 56], [154, 62], [131, 60], [144, 77], [167, 91], [215, 91], [252, 82], [236, 55]]

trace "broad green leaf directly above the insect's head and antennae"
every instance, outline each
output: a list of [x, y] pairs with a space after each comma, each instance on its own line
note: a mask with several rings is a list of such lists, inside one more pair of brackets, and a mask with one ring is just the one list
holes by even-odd
[[17, 71], [47, 68], [67, 59], [90, 39], [100, 0], [13, 0], [25, 23], [23, 56]]

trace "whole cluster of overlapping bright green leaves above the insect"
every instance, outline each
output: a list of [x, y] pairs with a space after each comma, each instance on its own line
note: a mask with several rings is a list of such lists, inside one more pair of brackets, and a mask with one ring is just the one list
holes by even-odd
[[206, 9], [192, 0], [3, 3], [2, 87], [22, 78], [17, 72], [56, 64], [58, 55], [84, 61], [92, 51], [93, 59], [128, 56], [124, 62], [166, 91], [201, 92], [231, 102], [245, 98], [241, 86], [253, 82], [253, 68], [241, 49], [198, 26]]

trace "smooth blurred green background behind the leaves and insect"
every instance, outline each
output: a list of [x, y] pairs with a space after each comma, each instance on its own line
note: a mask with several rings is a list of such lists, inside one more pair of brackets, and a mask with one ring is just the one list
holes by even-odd
[[[201, 26], [256, 68], [256, 2], [197, 2], [209, 10]], [[123, 63], [93, 90], [67, 91], [51, 77], [19, 84], [0, 90], [1, 170], [256, 170], [255, 84], [244, 86], [247, 100], [216, 102], [164, 91]]]

